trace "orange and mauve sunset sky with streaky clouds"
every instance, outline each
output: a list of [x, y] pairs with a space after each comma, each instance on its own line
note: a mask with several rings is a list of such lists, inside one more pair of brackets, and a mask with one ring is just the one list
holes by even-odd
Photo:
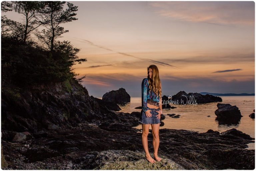
[[[255, 91], [253, 1], [68, 1], [78, 20], [62, 24], [87, 62], [74, 66], [89, 95], [125, 88], [141, 97], [147, 67], [156, 65], [163, 95], [184, 90]], [[15, 12], [2, 13], [18, 21]]]

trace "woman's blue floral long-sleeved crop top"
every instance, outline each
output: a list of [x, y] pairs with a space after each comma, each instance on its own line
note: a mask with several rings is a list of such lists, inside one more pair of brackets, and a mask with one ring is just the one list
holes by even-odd
[[141, 100], [142, 100], [142, 110], [145, 112], [146, 110], [149, 109], [149, 107], [147, 106], [147, 100], [151, 99], [153, 101], [156, 102], [160, 102], [160, 97], [158, 95], [155, 94], [154, 91], [150, 91], [149, 87], [148, 87], [148, 79], [145, 78], [143, 79], [142, 83], [141, 83]]

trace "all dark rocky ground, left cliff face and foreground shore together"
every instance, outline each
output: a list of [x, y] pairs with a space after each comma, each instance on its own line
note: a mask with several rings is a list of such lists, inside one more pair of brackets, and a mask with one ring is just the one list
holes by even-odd
[[[2, 169], [255, 168], [255, 150], [245, 149], [254, 138], [234, 128], [222, 133], [160, 129], [158, 156], [163, 159], [152, 164], [144, 158], [142, 130], [133, 128], [139, 124], [139, 112], [108, 109], [107, 103], [89, 96], [81, 85], [71, 83], [71, 93], [63, 92], [62, 86], [14, 93], [15, 99], [2, 95], [1, 142], [8, 163]], [[162, 122], [164, 118], [162, 115]], [[17, 132], [24, 139], [15, 142]], [[151, 154], [152, 141], [150, 130]]]

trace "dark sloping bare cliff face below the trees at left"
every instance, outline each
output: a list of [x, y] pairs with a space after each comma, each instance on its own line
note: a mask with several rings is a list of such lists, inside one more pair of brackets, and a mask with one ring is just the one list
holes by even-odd
[[[110, 112], [75, 80], [27, 89], [2, 88], [2, 130], [37, 132], [49, 125], [99, 122]], [[3, 137], [4, 138], [4, 137]]]

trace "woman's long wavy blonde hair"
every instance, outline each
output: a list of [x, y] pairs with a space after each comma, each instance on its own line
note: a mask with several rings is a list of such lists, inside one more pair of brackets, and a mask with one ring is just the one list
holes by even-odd
[[161, 81], [160, 81], [160, 78], [159, 78], [158, 68], [155, 65], [150, 65], [147, 68], [147, 70], [149, 70], [150, 68], [152, 69], [152, 76], [151, 76], [151, 79], [150, 79], [149, 75], [148, 75], [149, 89], [153, 90], [154, 93], [156, 95], [159, 95], [159, 97], [161, 98], [161, 96], [162, 96], [162, 87], [160, 86]]

